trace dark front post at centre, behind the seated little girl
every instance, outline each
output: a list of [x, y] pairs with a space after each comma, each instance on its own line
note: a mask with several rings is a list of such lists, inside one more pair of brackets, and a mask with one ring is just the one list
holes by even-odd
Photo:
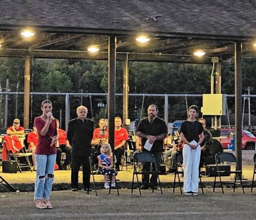
[[113, 154], [115, 143], [115, 94], [116, 93], [116, 37], [109, 37], [109, 71], [108, 71], [108, 119], [109, 119], [109, 144]]

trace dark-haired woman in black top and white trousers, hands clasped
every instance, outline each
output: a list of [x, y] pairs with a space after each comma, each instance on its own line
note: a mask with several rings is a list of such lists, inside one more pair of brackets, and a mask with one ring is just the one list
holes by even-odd
[[200, 162], [200, 145], [203, 141], [203, 127], [196, 120], [198, 107], [191, 105], [188, 109], [189, 118], [182, 123], [181, 139], [183, 146], [183, 165], [184, 165], [184, 186], [185, 195], [197, 195], [198, 176]]

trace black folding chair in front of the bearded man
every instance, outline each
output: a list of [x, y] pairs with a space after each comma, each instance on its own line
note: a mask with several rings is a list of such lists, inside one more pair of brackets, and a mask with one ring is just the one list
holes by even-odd
[[[160, 179], [159, 179], [159, 171], [157, 169], [157, 163], [156, 163], [156, 159], [155, 157], [149, 153], [149, 152], [138, 152], [138, 153], [135, 153], [134, 154], [134, 169], [133, 169], [133, 182], [132, 182], [132, 193], [133, 193], [133, 187], [134, 187], [134, 176], [136, 175], [136, 178], [137, 178], [137, 183], [139, 185], [139, 192], [140, 192], [140, 195], [141, 195], [141, 189], [140, 189], [140, 186], [143, 184], [141, 182], [139, 182], [139, 177], [138, 177], [138, 174], [158, 174], [158, 182], [159, 182], [159, 187], [160, 187], [160, 190], [161, 190], [161, 194], [163, 194], [163, 189], [161, 187], [161, 182], [160, 182]], [[141, 163], [144, 163], [144, 162], [150, 162], [152, 163], [152, 166], [155, 168], [155, 171], [138, 171], [139, 168], [141, 168]], [[152, 193], [154, 192], [154, 187], [155, 185], [152, 185]]]

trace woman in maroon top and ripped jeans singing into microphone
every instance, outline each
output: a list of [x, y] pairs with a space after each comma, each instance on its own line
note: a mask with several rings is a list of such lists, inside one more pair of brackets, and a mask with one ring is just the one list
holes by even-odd
[[50, 204], [49, 197], [54, 180], [58, 133], [56, 120], [52, 114], [52, 102], [44, 100], [41, 109], [42, 115], [34, 121], [38, 131], [38, 144], [35, 152], [37, 161], [35, 200], [37, 208], [52, 209], [53, 205]]

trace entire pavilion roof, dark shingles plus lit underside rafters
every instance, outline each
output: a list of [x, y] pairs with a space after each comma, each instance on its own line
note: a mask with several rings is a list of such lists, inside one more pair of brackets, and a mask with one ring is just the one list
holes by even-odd
[[[225, 58], [234, 53], [235, 40], [244, 41], [245, 51], [253, 52], [255, 11], [255, 1], [233, 0], [1, 0], [0, 42], [3, 41], [3, 47], [0, 56], [14, 53], [23, 56], [30, 49], [34, 57], [52, 58], [54, 52], [42, 55], [42, 51], [36, 50], [78, 52], [92, 43], [107, 52], [107, 36], [115, 34], [117, 52], [140, 53], [136, 57], [151, 54], [141, 61], [150, 61], [151, 57], [156, 61], [157, 54], [161, 59], [163, 54], [169, 54], [185, 56], [184, 62], [187, 62], [188, 56], [199, 47], [206, 50], [209, 57]], [[26, 26], [36, 28], [40, 37], [30, 42], [21, 39], [17, 31]], [[142, 32], [152, 37], [149, 47], [135, 44], [135, 36]], [[76, 58], [75, 53], [72, 54]], [[59, 54], [57, 58], [68, 58], [67, 55]], [[101, 54], [98, 59], [106, 59], [106, 56]], [[178, 61], [177, 56], [174, 60]], [[124, 59], [122, 54], [119, 57]], [[169, 60], [170, 56], [166, 62]]]

